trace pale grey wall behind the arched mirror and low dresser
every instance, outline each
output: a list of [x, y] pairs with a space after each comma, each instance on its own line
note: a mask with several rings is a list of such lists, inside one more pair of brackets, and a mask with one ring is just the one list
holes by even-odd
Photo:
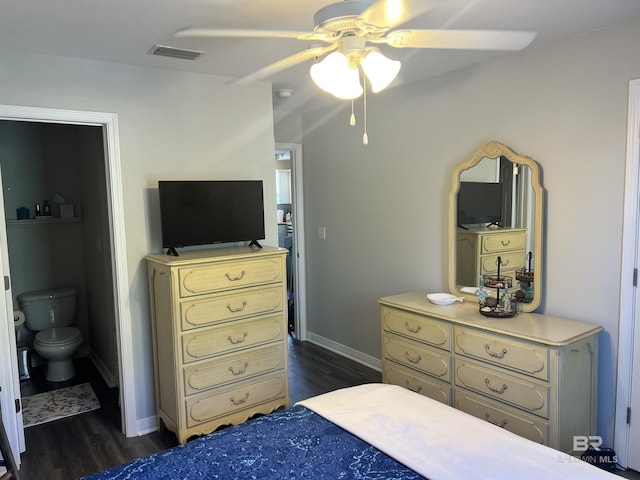
[[606, 328], [598, 431], [611, 445], [627, 93], [640, 78], [638, 44], [635, 20], [371, 95], [368, 146], [361, 127], [347, 124], [350, 105], [339, 115], [305, 114], [309, 331], [380, 358], [376, 299], [448, 290], [452, 171], [485, 142], [500, 141], [543, 170], [540, 310]]

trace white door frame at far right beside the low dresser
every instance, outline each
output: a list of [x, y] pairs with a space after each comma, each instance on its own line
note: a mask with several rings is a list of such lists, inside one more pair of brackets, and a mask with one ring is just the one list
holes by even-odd
[[[620, 318], [618, 331], [618, 372], [614, 446], [618, 463], [624, 468], [629, 459], [627, 409], [632, 400], [634, 331], [640, 318], [640, 299], [634, 285], [634, 270], [638, 268], [638, 227], [640, 200], [640, 79], [629, 82], [627, 120], [627, 153], [625, 167], [624, 212], [622, 226], [622, 256], [620, 273]], [[638, 352], [640, 354], [640, 352]], [[636, 372], [637, 374], [638, 372]], [[640, 412], [636, 412], [640, 415]]]

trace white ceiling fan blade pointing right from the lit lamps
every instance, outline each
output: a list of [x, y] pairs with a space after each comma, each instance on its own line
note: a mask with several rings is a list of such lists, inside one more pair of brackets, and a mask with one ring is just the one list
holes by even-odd
[[536, 32], [514, 30], [396, 30], [379, 39], [396, 48], [522, 50]]

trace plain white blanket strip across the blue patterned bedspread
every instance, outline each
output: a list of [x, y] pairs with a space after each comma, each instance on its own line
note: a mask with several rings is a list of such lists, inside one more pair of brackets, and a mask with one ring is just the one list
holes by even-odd
[[395, 385], [345, 388], [297, 405], [430, 480], [619, 478]]

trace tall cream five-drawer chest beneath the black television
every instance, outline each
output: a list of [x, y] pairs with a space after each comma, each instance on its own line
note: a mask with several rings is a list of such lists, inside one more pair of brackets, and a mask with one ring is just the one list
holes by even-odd
[[180, 443], [289, 405], [286, 253], [147, 256], [157, 414]]

